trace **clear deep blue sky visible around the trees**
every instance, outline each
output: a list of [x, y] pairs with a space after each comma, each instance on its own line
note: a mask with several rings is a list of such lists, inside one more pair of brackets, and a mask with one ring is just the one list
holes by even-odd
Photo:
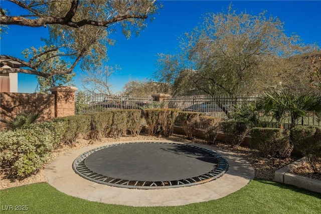
[[[191, 32], [202, 23], [202, 16], [208, 12], [226, 11], [232, 3], [233, 9], [254, 16], [263, 11], [284, 22], [285, 33], [298, 35], [304, 43], [316, 43], [321, 47], [321, 1], [163, 1], [155, 20], [148, 23], [140, 36], [127, 40], [121, 32], [112, 35], [114, 46], [108, 47], [109, 61], [105, 65], [118, 65], [110, 79], [112, 92], [117, 93], [129, 80], [150, 79], [156, 70], [157, 53], [175, 54], [178, 37]], [[12, 5], [1, 0], [2, 7]], [[17, 9], [15, 9], [17, 11]], [[12, 13], [14, 15], [14, 13]], [[17, 14], [18, 15], [18, 14]], [[8, 34], [0, 40], [1, 55], [23, 58], [21, 52], [31, 46], [41, 46], [40, 38], [46, 37], [46, 28], [9, 26]], [[80, 90], [82, 71], [74, 70], [76, 87]], [[33, 75], [18, 75], [18, 92], [33, 93], [37, 80]]]

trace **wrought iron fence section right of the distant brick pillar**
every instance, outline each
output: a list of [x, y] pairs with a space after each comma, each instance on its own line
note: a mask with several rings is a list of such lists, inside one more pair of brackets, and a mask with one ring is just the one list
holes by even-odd
[[[259, 99], [260, 96], [182, 96], [166, 99], [165, 106], [167, 108], [178, 108], [182, 111], [194, 111], [202, 112], [207, 116], [221, 117], [223, 119], [231, 118], [235, 107], [242, 105], [245, 102], [250, 102]], [[264, 118], [266, 122], [270, 123], [271, 127], [277, 127], [275, 121], [272, 117], [267, 116]], [[289, 128], [291, 123], [291, 118], [286, 118], [283, 127]], [[317, 121], [317, 116], [314, 112], [310, 113], [306, 117], [302, 117], [298, 122], [299, 125], [315, 125], [321, 126], [321, 123]], [[180, 125], [180, 124], [177, 124]]]

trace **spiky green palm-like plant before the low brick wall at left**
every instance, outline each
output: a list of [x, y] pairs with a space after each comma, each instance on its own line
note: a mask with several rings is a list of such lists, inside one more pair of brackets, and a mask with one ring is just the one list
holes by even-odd
[[41, 115], [41, 112], [19, 111], [17, 116], [11, 119], [1, 118], [0, 122], [5, 123], [7, 129], [15, 130], [19, 128], [28, 128]]

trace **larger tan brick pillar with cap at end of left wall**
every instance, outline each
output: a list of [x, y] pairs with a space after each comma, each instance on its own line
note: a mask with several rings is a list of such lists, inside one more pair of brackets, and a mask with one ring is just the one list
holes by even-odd
[[55, 95], [55, 117], [75, 115], [75, 92], [71, 86], [56, 86], [49, 89]]

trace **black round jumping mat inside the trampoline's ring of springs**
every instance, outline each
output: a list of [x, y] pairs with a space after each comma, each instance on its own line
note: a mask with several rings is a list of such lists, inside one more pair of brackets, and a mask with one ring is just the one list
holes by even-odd
[[184, 144], [130, 143], [90, 154], [85, 165], [93, 172], [124, 180], [166, 181], [211, 171], [218, 161], [206, 151]]

